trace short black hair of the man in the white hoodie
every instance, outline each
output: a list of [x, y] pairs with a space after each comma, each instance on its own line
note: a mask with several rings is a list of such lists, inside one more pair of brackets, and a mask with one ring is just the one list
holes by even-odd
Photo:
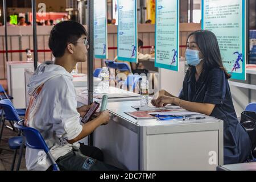
[[87, 32], [80, 23], [73, 21], [57, 23], [51, 30], [48, 43], [53, 56], [63, 56], [67, 44], [73, 43], [76, 45], [74, 42], [77, 42], [82, 35], [87, 36]]

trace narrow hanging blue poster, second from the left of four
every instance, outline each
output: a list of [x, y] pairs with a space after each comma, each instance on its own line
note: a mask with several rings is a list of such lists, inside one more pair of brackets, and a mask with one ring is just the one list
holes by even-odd
[[117, 59], [137, 63], [137, 1], [118, 0]]

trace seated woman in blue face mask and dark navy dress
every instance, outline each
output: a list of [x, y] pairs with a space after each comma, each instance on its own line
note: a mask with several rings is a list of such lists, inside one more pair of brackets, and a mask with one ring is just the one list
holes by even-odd
[[[234, 110], [228, 79], [216, 36], [196, 31], [188, 36], [185, 57], [189, 65], [179, 97], [160, 90], [152, 105], [175, 104], [224, 121], [224, 164], [245, 162], [251, 151], [249, 135]], [[170, 83], [171, 84], [171, 83]]]

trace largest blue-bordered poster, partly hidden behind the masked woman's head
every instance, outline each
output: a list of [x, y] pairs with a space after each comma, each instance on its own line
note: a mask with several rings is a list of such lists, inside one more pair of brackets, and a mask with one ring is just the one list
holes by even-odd
[[202, 29], [216, 35], [224, 67], [237, 80], [246, 80], [245, 7], [245, 0], [202, 0]]

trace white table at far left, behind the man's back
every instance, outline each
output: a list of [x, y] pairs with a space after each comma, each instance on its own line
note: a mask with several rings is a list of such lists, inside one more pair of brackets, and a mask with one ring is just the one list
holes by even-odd
[[9, 61], [7, 62], [8, 93], [14, 97], [13, 104], [16, 109], [26, 108], [26, 90], [24, 70], [34, 71], [34, 62]]

